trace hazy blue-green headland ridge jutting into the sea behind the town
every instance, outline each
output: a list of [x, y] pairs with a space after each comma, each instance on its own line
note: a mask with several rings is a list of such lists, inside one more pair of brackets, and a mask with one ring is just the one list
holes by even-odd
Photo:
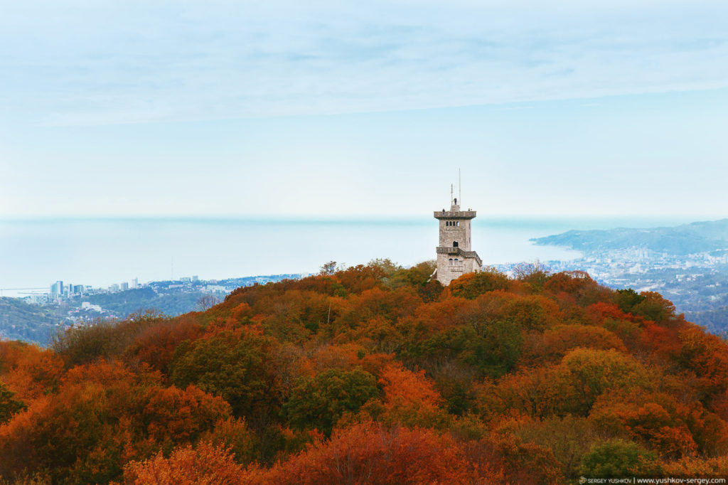
[[728, 218], [652, 229], [572, 230], [537, 237], [531, 241], [539, 245], [557, 245], [584, 253], [624, 248], [641, 248], [677, 256], [727, 251]]

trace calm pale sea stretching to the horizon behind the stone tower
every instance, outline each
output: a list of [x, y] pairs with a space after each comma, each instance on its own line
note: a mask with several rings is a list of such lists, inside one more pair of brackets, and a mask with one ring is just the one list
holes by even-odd
[[[506, 218], [478, 216], [472, 245], [486, 264], [573, 259], [531, 237], [569, 229], [670, 226], [695, 218]], [[434, 259], [437, 221], [418, 218], [60, 218], [0, 220], [3, 296], [64, 283], [106, 287], [197, 275], [223, 279], [317, 272], [389, 258]]]

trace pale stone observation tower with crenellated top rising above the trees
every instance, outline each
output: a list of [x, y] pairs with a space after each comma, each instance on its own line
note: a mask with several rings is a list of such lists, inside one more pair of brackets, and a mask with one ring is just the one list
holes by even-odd
[[447, 286], [465, 273], [480, 271], [483, 261], [478, 253], [470, 251], [470, 221], [475, 218], [475, 210], [460, 210], [457, 198], [451, 196], [450, 210], [435, 210], [435, 218], [440, 221], [438, 269], [435, 269], [438, 281]]

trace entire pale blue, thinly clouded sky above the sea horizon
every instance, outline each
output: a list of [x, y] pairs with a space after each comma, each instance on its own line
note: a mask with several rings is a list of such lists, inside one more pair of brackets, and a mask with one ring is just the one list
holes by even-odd
[[[608, 5], [606, 5], [608, 3]], [[728, 213], [724, 1], [0, 0], [0, 217]]]

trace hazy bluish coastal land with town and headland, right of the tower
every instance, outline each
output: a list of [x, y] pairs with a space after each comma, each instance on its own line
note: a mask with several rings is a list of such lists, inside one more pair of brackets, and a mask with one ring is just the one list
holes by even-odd
[[549, 261], [555, 271], [578, 269], [611, 288], [657, 291], [688, 320], [728, 334], [728, 218], [672, 227], [570, 230], [531, 241], [583, 254]]

